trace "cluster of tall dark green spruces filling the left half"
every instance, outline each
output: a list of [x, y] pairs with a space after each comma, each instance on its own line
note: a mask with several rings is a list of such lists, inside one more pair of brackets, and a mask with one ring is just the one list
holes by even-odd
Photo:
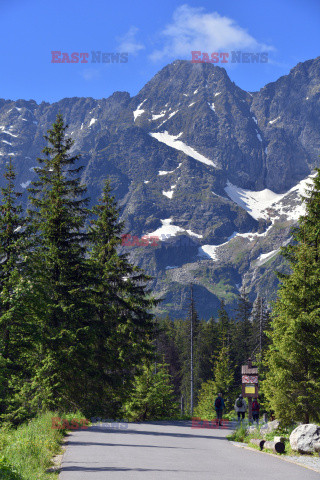
[[0, 420], [16, 425], [48, 409], [116, 416], [153, 358], [150, 277], [118, 253], [109, 183], [87, 208], [66, 129], [58, 115], [45, 136], [26, 219], [11, 161], [2, 189]]

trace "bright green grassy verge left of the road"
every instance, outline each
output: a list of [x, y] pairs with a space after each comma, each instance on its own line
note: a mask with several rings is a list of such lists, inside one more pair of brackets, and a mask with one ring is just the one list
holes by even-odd
[[[0, 428], [1, 480], [57, 480], [57, 473], [46, 473], [52, 466], [52, 457], [62, 453], [61, 443], [65, 429], [53, 429], [52, 418], [57, 413], [47, 412], [20, 425], [18, 428]], [[79, 413], [63, 415], [69, 421], [83, 418]]]

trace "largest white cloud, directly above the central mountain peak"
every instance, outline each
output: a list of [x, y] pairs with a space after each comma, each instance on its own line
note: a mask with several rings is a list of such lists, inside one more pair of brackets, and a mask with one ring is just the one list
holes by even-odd
[[173, 13], [172, 22], [161, 32], [163, 45], [150, 55], [152, 60], [163, 58], [191, 58], [192, 50], [223, 52], [246, 50], [252, 52], [273, 50], [259, 43], [244, 28], [217, 12], [205, 13], [203, 7], [182, 5]]

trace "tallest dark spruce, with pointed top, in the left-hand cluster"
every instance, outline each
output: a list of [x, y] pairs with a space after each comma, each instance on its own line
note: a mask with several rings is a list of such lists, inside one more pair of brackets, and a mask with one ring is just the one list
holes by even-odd
[[35, 345], [36, 374], [30, 384], [34, 407], [77, 408], [83, 394], [83, 373], [89, 344], [85, 232], [88, 199], [70, 155], [61, 115], [48, 134], [45, 158], [35, 168], [39, 179], [29, 188], [29, 221], [33, 234], [30, 277], [41, 292], [39, 342]]

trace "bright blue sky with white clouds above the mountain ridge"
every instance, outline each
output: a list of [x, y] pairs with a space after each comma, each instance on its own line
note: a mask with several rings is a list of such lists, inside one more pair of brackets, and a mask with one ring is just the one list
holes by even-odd
[[[267, 63], [218, 63], [255, 91], [320, 55], [319, 0], [0, 0], [0, 18], [0, 98], [12, 100], [133, 96], [191, 50], [267, 52]], [[88, 63], [52, 63], [51, 51], [88, 53]], [[92, 63], [92, 51], [128, 52], [128, 62]]]

